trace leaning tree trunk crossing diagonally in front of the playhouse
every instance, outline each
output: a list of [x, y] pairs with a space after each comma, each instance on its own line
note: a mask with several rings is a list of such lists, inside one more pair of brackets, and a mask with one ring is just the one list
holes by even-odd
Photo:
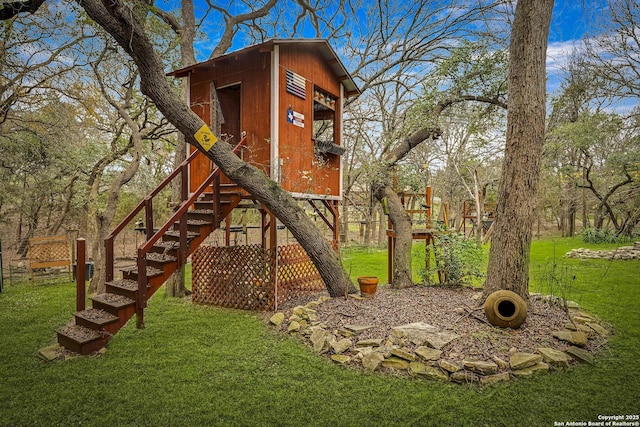
[[306, 250], [331, 296], [344, 295], [351, 281], [338, 254], [291, 195], [262, 171], [240, 160], [228, 144], [214, 144], [209, 150], [205, 150], [196, 140], [194, 135], [204, 122], [173, 93], [164, 75], [162, 63], [136, 14], [131, 13], [124, 3], [117, 1], [103, 3], [99, 0], [86, 0], [79, 3], [131, 56], [140, 70], [142, 92], [154, 101], [167, 120], [185, 135], [189, 144], [200, 148], [222, 172], [282, 221]]

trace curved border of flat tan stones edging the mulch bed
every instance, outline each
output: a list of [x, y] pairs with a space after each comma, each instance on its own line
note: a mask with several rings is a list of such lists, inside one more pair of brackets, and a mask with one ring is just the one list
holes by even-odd
[[[531, 295], [532, 298], [557, 303], [557, 297]], [[358, 298], [358, 297], [356, 297]], [[337, 364], [385, 373], [410, 375], [417, 378], [452, 381], [459, 384], [492, 384], [514, 378], [528, 377], [541, 372], [568, 368], [578, 363], [594, 364], [594, 356], [584, 347], [591, 339], [606, 341], [610, 331], [597, 318], [580, 309], [573, 301], [562, 301], [571, 323], [566, 329], [552, 331], [550, 338], [569, 343], [561, 351], [553, 347], [537, 348], [536, 353], [512, 349], [509, 360], [492, 356], [491, 360], [464, 358], [462, 363], [443, 357], [448, 342], [461, 337], [447, 335], [424, 323], [400, 325], [386, 337], [358, 340], [358, 335], [370, 325], [349, 325], [328, 331], [317, 319], [315, 308], [329, 300], [321, 296], [304, 306], [296, 306], [286, 319], [284, 312], [275, 313], [270, 323], [286, 333], [301, 338], [317, 354], [325, 355]], [[410, 350], [407, 341], [418, 347]]]

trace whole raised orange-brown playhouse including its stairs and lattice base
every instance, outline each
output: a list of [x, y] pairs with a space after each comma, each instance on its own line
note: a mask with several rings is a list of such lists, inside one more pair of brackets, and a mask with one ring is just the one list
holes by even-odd
[[[344, 100], [359, 90], [328, 42], [274, 39], [170, 75], [188, 79], [192, 110], [245, 161], [306, 203], [337, 246], [342, 109]], [[178, 176], [182, 203], [168, 221], [156, 224], [154, 198]], [[222, 227], [228, 246], [234, 209], [260, 212], [261, 244], [199, 248]], [[146, 241], [137, 248], [136, 265], [116, 278], [115, 238], [139, 217], [144, 218]], [[134, 314], [142, 325], [148, 298], [192, 254], [196, 302], [270, 309], [324, 286], [301, 247], [278, 246], [275, 217], [193, 149], [105, 245], [107, 292], [91, 298], [92, 308], [77, 307], [74, 324], [58, 331], [61, 345], [82, 354], [103, 347]]]

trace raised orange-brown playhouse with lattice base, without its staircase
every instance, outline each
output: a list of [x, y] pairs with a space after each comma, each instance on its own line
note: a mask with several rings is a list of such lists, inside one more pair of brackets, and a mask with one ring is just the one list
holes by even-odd
[[[239, 155], [306, 204], [337, 248], [343, 103], [359, 90], [329, 43], [274, 39], [171, 75], [188, 79], [192, 110], [233, 146], [244, 138]], [[213, 168], [206, 156], [196, 155], [189, 167], [191, 192]], [[211, 192], [206, 197], [218, 193], [229, 199], [229, 213], [220, 218], [226, 245], [195, 251], [194, 302], [274, 309], [303, 292], [324, 289], [302, 247], [279, 244], [276, 219], [264, 206], [224, 174]], [[260, 212], [260, 244], [230, 246], [234, 209]]]

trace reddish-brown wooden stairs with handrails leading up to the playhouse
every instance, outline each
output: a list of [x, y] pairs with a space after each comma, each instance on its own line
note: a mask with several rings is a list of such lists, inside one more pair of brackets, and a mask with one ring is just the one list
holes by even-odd
[[[234, 148], [238, 153], [243, 139]], [[138, 327], [143, 325], [147, 300], [177, 271], [198, 246], [220, 227], [247, 196], [236, 184], [223, 184], [215, 167], [205, 182], [188, 197], [188, 164], [192, 154], [147, 198], [141, 202], [105, 239], [106, 292], [91, 297], [91, 308], [75, 313], [74, 321], [57, 331], [58, 343], [83, 355], [99, 351], [134, 315]], [[176, 176], [182, 175], [182, 203], [174, 215], [157, 231], [153, 228], [152, 200]], [[138, 247], [135, 266], [123, 268], [122, 278], [115, 279], [113, 242], [139, 213], [146, 216], [146, 242]]]

